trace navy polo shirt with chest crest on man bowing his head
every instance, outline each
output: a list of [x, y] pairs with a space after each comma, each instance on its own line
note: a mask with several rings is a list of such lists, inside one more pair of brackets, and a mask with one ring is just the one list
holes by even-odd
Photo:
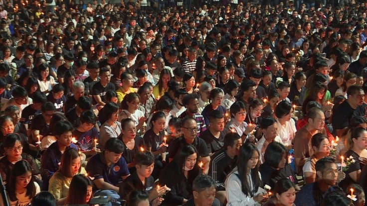
[[86, 170], [95, 180], [103, 178], [104, 182], [116, 186], [122, 181], [123, 176], [130, 174], [128, 165], [124, 157], [120, 157], [117, 163], [111, 163], [108, 166], [104, 154], [101, 152], [93, 155], [87, 163]]

